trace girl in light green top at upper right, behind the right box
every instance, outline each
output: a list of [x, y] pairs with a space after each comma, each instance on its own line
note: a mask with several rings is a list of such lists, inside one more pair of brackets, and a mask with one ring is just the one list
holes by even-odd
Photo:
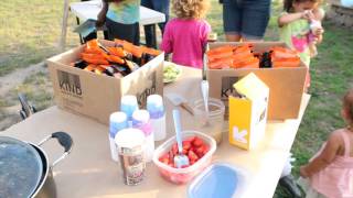
[[[297, 50], [301, 61], [308, 67], [311, 55], [315, 54], [313, 45], [322, 41], [321, 20], [324, 13], [319, 8], [319, 3], [320, 0], [285, 0], [285, 13], [278, 18], [280, 40], [289, 47]], [[312, 30], [310, 24], [312, 24]], [[306, 88], [309, 86], [310, 76], [308, 74]]]

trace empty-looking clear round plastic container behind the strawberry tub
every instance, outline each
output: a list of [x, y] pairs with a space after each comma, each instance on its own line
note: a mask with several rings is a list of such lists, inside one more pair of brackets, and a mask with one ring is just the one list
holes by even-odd
[[192, 109], [195, 116], [196, 130], [215, 139], [217, 145], [222, 142], [224, 123], [224, 103], [215, 98], [208, 98], [208, 119], [206, 118], [203, 99], [195, 100]]

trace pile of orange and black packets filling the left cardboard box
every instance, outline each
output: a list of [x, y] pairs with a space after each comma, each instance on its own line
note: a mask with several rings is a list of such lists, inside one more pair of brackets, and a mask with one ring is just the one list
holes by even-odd
[[[135, 46], [126, 41], [115, 40], [114, 42], [115, 46], [103, 46], [98, 40], [88, 41], [81, 53], [81, 59], [72, 66], [100, 75], [121, 77], [161, 54], [160, 51]], [[120, 75], [114, 75], [115, 73]]]

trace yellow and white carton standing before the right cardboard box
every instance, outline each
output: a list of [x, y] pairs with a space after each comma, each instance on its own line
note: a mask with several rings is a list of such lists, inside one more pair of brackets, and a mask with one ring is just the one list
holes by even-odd
[[229, 143], [252, 150], [265, 134], [269, 88], [253, 73], [233, 85], [229, 97]]

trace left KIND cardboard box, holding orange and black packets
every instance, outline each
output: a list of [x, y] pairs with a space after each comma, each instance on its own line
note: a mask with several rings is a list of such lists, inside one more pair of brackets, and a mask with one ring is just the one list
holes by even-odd
[[[105, 46], [114, 46], [114, 42], [99, 42]], [[119, 110], [121, 96], [135, 95], [140, 107], [145, 107], [149, 95], [163, 95], [163, 53], [119, 79], [69, 66], [69, 63], [78, 59], [84, 46], [46, 61], [60, 108], [107, 124], [109, 114]]]

